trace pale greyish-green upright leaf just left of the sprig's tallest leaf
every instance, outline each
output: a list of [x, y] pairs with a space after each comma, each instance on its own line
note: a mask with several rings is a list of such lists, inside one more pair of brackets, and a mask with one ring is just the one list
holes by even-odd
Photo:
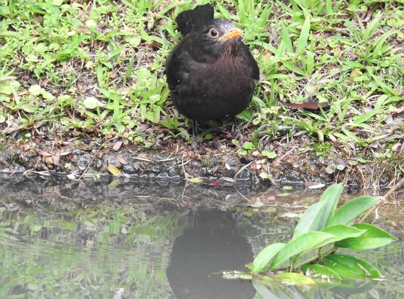
[[326, 204], [327, 202], [324, 200], [316, 202], [307, 208], [295, 227], [292, 240], [307, 232], [316, 232], [324, 228], [327, 218], [324, 218], [322, 211]]

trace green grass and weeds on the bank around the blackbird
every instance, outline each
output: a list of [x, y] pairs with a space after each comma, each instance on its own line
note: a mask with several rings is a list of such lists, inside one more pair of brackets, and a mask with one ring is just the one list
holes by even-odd
[[[195, 2], [0, 4], [3, 136], [117, 137], [145, 147], [189, 140], [190, 121], [173, 107], [163, 72], [181, 38], [173, 19]], [[234, 0], [215, 9], [244, 29], [263, 73], [238, 115], [253, 149], [303, 134], [354, 152], [403, 143], [402, 0]], [[284, 105], [307, 101], [329, 107]], [[223, 135], [208, 128], [200, 139], [206, 134]]]

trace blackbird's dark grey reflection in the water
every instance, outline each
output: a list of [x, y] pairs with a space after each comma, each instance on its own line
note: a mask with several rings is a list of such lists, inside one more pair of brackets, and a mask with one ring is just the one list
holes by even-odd
[[253, 298], [251, 282], [212, 275], [242, 269], [253, 259], [246, 238], [234, 234], [236, 222], [231, 213], [199, 210], [190, 217], [194, 217], [194, 227], [175, 239], [167, 269], [168, 282], [177, 299]]

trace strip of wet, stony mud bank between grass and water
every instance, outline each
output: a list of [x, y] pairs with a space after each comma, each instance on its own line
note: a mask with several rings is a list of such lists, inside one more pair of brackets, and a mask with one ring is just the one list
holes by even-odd
[[116, 143], [100, 146], [94, 141], [63, 147], [30, 144], [6, 143], [0, 154], [1, 172], [75, 174], [78, 178], [88, 172], [112, 175], [114, 172], [108, 166], [114, 166], [124, 177], [184, 179], [186, 176], [204, 178], [212, 184], [219, 181], [262, 185], [294, 182], [306, 186], [344, 181], [353, 189], [367, 187], [374, 181], [382, 187], [402, 177], [394, 169], [386, 169], [383, 162], [349, 165], [341, 158], [318, 157], [307, 143], [273, 148], [274, 158], [258, 151], [240, 156], [235, 149], [219, 147], [201, 151], [200, 159], [189, 145], [180, 143], [160, 149], [122, 146], [118, 150], [114, 150]]

